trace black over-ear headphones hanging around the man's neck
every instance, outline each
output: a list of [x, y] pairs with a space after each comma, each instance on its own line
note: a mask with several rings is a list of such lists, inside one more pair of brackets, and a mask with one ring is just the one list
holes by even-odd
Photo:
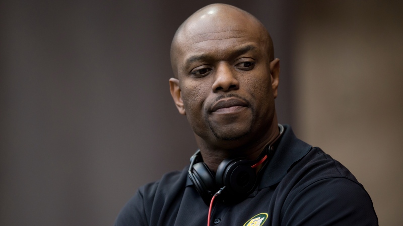
[[266, 158], [268, 160], [265, 161], [264, 165], [270, 162], [275, 151], [274, 144], [284, 133], [284, 127], [281, 124], [279, 124], [279, 130], [279, 136], [271, 144], [264, 147], [257, 159], [224, 159], [217, 168], [216, 176], [214, 176], [206, 163], [203, 162], [200, 150], [194, 153], [190, 158], [188, 175], [206, 204], [209, 205], [211, 198], [220, 188], [221, 190], [225, 190], [223, 191], [224, 199], [232, 201], [240, 200], [255, 190], [260, 172], [264, 167], [261, 167], [257, 173], [254, 167], [260, 161], [264, 162]]

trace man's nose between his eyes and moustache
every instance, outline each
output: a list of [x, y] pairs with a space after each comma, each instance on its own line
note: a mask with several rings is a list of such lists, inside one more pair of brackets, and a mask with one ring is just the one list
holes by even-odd
[[239, 88], [239, 82], [236, 78], [235, 71], [231, 65], [227, 63], [221, 63], [218, 65], [216, 70], [215, 81], [213, 83], [213, 91], [230, 91]]

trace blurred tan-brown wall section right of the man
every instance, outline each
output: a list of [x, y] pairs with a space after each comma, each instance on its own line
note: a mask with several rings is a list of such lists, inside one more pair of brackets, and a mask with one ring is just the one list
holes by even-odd
[[293, 52], [295, 122], [403, 225], [403, 2], [308, 1]]

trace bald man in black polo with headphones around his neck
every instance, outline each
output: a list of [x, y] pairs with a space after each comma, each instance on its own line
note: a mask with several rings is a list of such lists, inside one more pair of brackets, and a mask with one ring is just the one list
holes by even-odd
[[200, 9], [177, 30], [171, 63], [171, 94], [199, 151], [182, 172], [141, 187], [116, 225], [378, 224], [343, 165], [278, 125], [279, 59], [256, 18]]

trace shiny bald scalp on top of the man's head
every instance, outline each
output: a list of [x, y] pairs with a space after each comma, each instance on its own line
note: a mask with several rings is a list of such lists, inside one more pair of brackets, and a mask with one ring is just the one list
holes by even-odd
[[212, 4], [196, 11], [176, 31], [171, 44], [171, 65], [175, 77], [178, 77], [178, 56], [184, 54], [189, 44], [198, 40], [214, 40], [217, 34], [224, 32], [228, 38], [257, 33], [268, 59], [274, 59], [272, 39], [259, 20], [234, 6]]

